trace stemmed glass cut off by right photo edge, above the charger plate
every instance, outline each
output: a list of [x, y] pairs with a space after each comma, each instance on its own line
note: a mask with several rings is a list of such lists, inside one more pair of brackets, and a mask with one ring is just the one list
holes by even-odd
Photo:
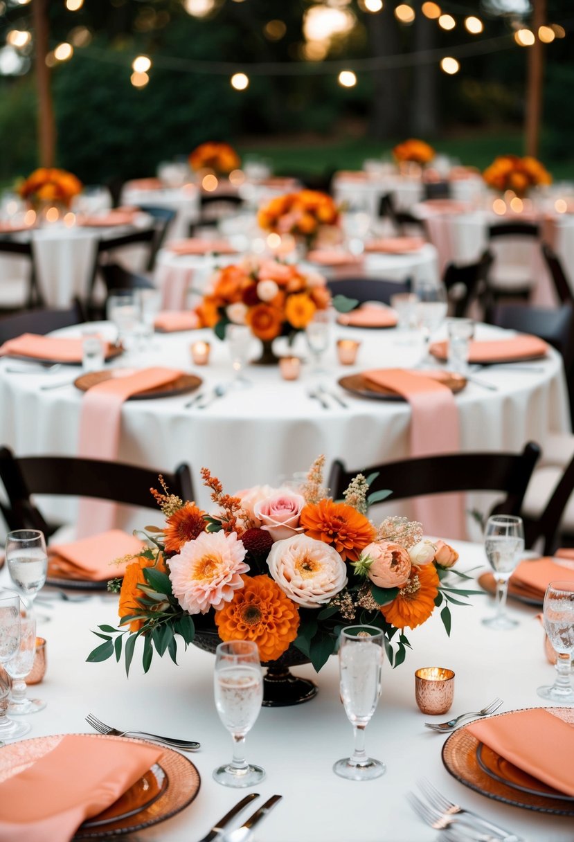
[[561, 705], [574, 704], [571, 661], [574, 654], [574, 582], [550, 582], [544, 598], [544, 627], [558, 658], [553, 685], [539, 687], [538, 695]]

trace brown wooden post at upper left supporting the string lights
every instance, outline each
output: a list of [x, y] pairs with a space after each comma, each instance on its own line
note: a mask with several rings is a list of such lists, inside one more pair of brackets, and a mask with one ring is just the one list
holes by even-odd
[[45, 63], [49, 47], [47, 5], [48, 0], [32, 0], [38, 91], [38, 151], [41, 167], [53, 167], [56, 155], [56, 123], [50, 89], [50, 67]]

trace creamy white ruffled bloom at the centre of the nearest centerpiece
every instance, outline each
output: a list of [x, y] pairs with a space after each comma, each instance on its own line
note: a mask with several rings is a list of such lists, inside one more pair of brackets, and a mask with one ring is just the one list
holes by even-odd
[[306, 535], [274, 543], [267, 563], [284, 594], [305, 608], [320, 608], [347, 584], [347, 568], [338, 552]]

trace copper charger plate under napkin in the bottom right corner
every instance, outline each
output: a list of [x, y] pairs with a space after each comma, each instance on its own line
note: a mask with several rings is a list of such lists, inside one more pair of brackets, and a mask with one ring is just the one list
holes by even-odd
[[[571, 707], [549, 707], [545, 710], [555, 713], [565, 722], [574, 725], [574, 710]], [[508, 717], [517, 712], [508, 711], [495, 714], [495, 716]], [[574, 800], [571, 797], [556, 793], [555, 790], [546, 787], [530, 775], [525, 776], [522, 770], [514, 771], [516, 767], [508, 764], [508, 761], [502, 759], [492, 749], [488, 749], [488, 753], [485, 754], [484, 749], [480, 750], [481, 745], [482, 743], [473, 737], [466, 727], [454, 731], [443, 746], [445, 769], [461, 784], [495, 801], [511, 804], [513, 807], [524, 807], [526, 810], [534, 810], [538, 813], [574, 816]], [[479, 761], [479, 751], [482, 764]], [[484, 768], [485, 765], [487, 765], [487, 770]], [[493, 768], [496, 769], [496, 777], [492, 774]], [[524, 783], [526, 778], [529, 782], [535, 782], [537, 792], [525, 791], [529, 787], [523, 787], [519, 781]], [[517, 783], [521, 786], [520, 789]], [[546, 789], [548, 791], [544, 791]]]

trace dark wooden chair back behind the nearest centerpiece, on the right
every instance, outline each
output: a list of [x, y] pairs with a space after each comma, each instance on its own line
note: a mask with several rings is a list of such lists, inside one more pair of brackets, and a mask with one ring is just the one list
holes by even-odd
[[[379, 472], [370, 491], [392, 489], [390, 500], [465, 491], [504, 492], [506, 498], [493, 511], [520, 514], [540, 448], [529, 442], [522, 453], [454, 453], [386, 462], [361, 469], [367, 476]], [[343, 497], [357, 471], [348, 471], [340, 460], [332, 464], [328, 487], [334, 499]]]

